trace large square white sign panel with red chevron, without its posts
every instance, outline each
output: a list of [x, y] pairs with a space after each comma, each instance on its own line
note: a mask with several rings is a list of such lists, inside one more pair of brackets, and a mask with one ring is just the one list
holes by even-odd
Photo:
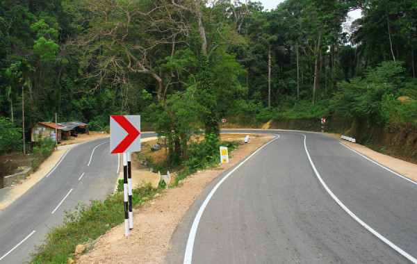
[[110, 116], [110, 153], [140, 151], [140, 115]]

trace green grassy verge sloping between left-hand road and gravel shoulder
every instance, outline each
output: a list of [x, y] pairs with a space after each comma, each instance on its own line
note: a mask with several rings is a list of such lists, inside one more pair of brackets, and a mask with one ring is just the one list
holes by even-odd
[[[67, 263], [68, 258], [74, 259], [76, 245], [89, 245], [92, 240], [121, 224], [124, 221], [124, 199], [120, 189], [104, 202], [91, 201], [89, 206], [79, 204], [73, 212], [66, 212], [64, 223], [49, 231], [44, 244], [37, 247], [29, 263]], [[150, 184], [133, 189], [133, 206], [140, 207], [142, 201], [159, 191], [161, 188], [153, 188]]]

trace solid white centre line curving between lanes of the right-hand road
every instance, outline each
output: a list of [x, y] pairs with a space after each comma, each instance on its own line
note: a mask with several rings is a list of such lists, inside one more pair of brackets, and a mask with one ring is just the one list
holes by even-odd
[[[304, 134], [302, 134], [304, 135]], [[304, 135], [304, 149], [306, 150], [306, 154], [307, 157], [310, 160], [310, 164], [311, 167], [313, 167], [314, 172], [316, 173], [316, 176], [318, 178], [318, 180], [320, 181], [320, 183], [322, 184], [322, 186], [325, 188], [325, 190], [327, 190], [327, 192], [329, 193], [329, 195], [334, 199], [334, 201], [336, 201], [336, 203], [341, 206], [341, 208], [343, 208], [343, 210], [348, 213], [354, 220], [356, 220], [357, 222], [359, 222], [359, 224], [361, 224], [363, 227], [365, 227], [366, 229], [368, 229], [368, 231], [370, 231], [370, 233], [373, 233], [374, 236], [376, 236], [377, 238], [379, 238], [380, 240], [382, 240], [383, 242], [386, 243], [386, 245], [389, 245], [390, 247], [392, 247], [395, 251], [397, 251], [398, 253], [400, 253], [402, 256], [404, 256], [405, 258], [408, 258], [409, 261], [411, 261], [412, 263], [417, 263], [417, 259], [414, 258], [413, 256], [409, 255], [406, 251], [400, 249], [400, 247], [397, 247], [393, 242], [391, 242], [390, 240], [386, 239], [384, 236], [382, 236], [380, 233], [378, 233], [377, 231], [375, 231], [374, 229], [372, 229], [370, 226], [368, 226], [368, 224], [366, 224], [365, 222], [363, 222], [359, 217], [357, 217], [354, 213], [352, 213], [352, 211], [350, 211], [342, 202], [341, 200], [339, 200], [336, 195], [334, 195], [334, 193], [332, 192], [332, 190], [330, 190], [330, 188], [327, 186], [327, 184], [325, 183], [325, 181], [323, 181], [322, 177], [320, 176], [320, 174], [318, 173], [316, 166], [313, 163], [313, 160], [311, 160], [309, 151], [307, 150], [307, 145], [306, 145], [306, 135]]]

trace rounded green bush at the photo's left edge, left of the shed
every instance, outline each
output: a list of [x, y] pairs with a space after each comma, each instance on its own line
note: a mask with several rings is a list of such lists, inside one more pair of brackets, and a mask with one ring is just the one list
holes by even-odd
[[0, 117], [0, 154], [19, 151], [22, 143], [22, 129], [8, 117]]

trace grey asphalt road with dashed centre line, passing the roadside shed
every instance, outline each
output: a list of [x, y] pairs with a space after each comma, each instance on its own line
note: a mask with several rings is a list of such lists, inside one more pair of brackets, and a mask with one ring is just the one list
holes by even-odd
[[109, 147], [109, 138], [72, 147], [49, 174], [0, 212], [0, 264], [27, 261], [49, 228], [62, 224], [65, 210], [111, 195], [120, 168]]

